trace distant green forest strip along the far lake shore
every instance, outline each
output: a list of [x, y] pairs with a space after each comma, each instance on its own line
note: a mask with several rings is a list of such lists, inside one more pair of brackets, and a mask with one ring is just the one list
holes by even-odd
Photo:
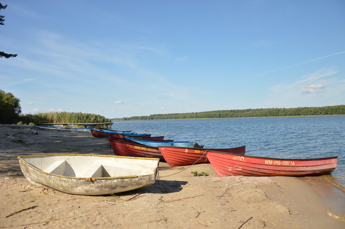
[[148, 116], [132, 116], [112, 120], [154, 120], [154, 119], [186, 119], [186, 118], [242, 118], [242, 117], [278, 117], [306, 115], [345, 115], [345, 105], [297, 108], [260, 108], [244, 110], [204, 111], [193, 113], [153, 114]]

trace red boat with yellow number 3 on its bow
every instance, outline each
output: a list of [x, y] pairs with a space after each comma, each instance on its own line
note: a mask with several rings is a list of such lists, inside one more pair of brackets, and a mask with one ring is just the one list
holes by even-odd
[[165, 161], [171, 166], [184, 166], [200, 163], [209, 163], [206, 157], [207, 150], [233, 153], [237, 155], [244, 155], [246, 153], [246, 146], [228, 149], [200, 149], [200, 148], [182, 148], [172, 146], [158, 147], [160, 153], [163, 155]]

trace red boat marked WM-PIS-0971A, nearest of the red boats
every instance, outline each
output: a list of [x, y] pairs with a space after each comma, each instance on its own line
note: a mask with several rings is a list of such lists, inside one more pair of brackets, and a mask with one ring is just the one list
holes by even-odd
[[319, 175], [337, 166], [337, 157], [278, 159], [207, 151], [207, 158], [220, 177]]

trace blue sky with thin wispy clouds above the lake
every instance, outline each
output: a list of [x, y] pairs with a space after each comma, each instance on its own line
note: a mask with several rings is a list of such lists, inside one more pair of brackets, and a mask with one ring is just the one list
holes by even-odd
[[0, 89], [107, 118], [345, 104], [345, 1], [0, 0]]

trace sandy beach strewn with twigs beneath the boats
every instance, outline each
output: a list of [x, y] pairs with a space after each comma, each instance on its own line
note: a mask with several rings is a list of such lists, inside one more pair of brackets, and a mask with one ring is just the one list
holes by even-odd
[[[8, 139], [19, 132], [26, 133], [16, 135], [23, 142]], [[160, 162], [154, 185], [78, 196], [34, 186], [23, 176], [18, 156], [51, 153], [114, 155], [107, 139], [89, 132], [0, 126], [0, 228], [345, 228], [332, 217], [344, 213], [326, 205], [309, 178], [220, 178], [210, 164], [180, 169]]]

